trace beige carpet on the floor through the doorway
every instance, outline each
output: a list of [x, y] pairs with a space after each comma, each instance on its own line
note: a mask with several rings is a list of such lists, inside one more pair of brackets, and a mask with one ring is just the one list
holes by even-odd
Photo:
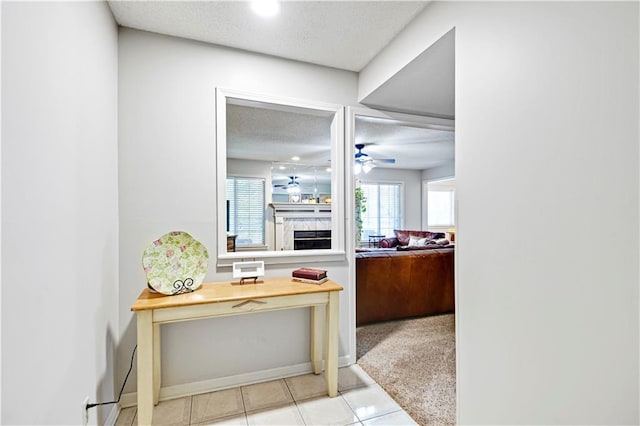
[[455, 315], [356, 329], [358, 365], [420, 425], [456, 423]]

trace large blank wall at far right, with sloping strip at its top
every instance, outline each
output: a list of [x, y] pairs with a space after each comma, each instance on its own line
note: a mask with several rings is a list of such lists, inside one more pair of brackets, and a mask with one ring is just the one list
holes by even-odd
[[640, 421], [638, 18], [431, 3], [361, 74], [364, 96], [456, 28], [461, 424]]

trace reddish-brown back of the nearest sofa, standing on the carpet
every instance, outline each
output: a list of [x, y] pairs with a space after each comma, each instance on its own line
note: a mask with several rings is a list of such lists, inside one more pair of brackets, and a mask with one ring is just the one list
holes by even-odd
[[356, 253], [356, 325], [454, 311], [454, 248]]

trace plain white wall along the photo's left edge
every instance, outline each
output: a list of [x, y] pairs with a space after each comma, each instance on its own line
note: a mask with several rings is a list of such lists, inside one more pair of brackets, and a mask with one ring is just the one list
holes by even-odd
[[80, 424], [119, 390], [117, 27], [106, 3], [1, 7], [2, 424]]

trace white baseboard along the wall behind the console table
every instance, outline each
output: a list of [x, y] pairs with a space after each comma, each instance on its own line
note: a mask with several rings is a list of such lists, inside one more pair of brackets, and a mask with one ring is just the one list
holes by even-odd
[[[345, 355], [338, 358], [338, 366], [346, 367], [353, 364], [351, 356]], [[166, 386], [160, 388], [160, 401], [182, 398], [184, 396], [197, 395], [199, 393], [213, 392], [217, 390], [235, 388], [237, 386], [250, 385], [254, 383], [267, 382], [269, 380], [281, 379], [284, 377], [299, 376], [311, 373], [311, 362], [289, 365], [287, 367], [272, 368], [251, 373], [238, 374], [235, 376], [220, 377], [217, 379], [203, 380], [201, 382], [184, 383], [181, 385]], [[137, 404], [137, 392], [125, 393], [120, 398], [122, 408], [134, 407]], [[109, 416], [111, 417], [111, 416]], [[109, 423], [107, 423], [109, 424]]]

